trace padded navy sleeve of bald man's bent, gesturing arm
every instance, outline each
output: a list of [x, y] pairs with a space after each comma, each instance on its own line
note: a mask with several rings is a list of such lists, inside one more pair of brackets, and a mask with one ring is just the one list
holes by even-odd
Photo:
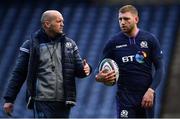
[[[75, 42], [74, 42], [74, 58], [75, 58], [75, 74], [76, 74], [76, 76], [79, 78], [86, 77], [86, 74], [84, 72], [83, 61], [82, 61], [78, 47]], [[90, 64], [88, 64], [88, 65], [90, 67], [90, 74], [91, 74], [92, 67], [90, 66]]]

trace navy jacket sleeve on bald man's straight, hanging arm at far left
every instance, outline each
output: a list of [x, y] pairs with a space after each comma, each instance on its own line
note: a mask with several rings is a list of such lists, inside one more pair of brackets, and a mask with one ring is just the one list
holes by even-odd
[[19, 93], [27, 75], [29, 62], [29, 41], [25, 41], [20, 47], [15, 67], [9, 79], [4, 95], [5, 102], [13, 103]]

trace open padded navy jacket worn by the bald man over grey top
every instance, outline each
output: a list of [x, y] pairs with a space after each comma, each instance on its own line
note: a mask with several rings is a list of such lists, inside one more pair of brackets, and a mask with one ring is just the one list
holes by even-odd
[[[82, 59], [79, 55], [78, 48], [73, 40], [65, 37], [64, 34], [60, 34], [56, 37], [56, 39], [60, 40], [62, 44], [62, 73], [65, 100], [67, 103], [75, 104], [75, 77], [86, 77], [86, 74], [83, 70]], [[39, 61], [39, 44], [47, 41], [48, 36], [42, 29], [38, 30], [35, 34], [33, 34], [30, 41], [25, 41], [24, 47], [29, 49], [29, 53], [26, 53], [28, 52], [26, 51], [26, 49], [22, 49], [25, 52], [20, 51], [19, 53], [16, 65], [14, 67], [11, 79], [8, 84], [8, 88], [4, 96], [6, 102], [14, 102], [25, 80], [27, 80], [28, 97], [31, 97], [31, 99], [35, 97], [35, 84], [37, 76], [36, 73]], [[66, 47], [68, 42], [72, 44], [73, 51]]]

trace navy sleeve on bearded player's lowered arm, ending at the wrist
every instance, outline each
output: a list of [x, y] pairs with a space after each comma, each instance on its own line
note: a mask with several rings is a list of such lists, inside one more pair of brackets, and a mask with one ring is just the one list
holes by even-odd
[[159, 40], [155, 37], [152, 47], [152, 62], [155, 67], [155, 75], [153, 77], [153, 81], [150, 88], [155, 90], [164, 76], [163, 53], [160, 47]]

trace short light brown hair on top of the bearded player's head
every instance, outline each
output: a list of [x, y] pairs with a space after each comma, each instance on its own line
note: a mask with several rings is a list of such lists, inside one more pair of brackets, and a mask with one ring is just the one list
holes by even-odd
[[138, 16], [138, 11], [133, 5], [125, 5], [119, 9], [119, 13], [125, 13], [125, 12], [131, 12], [132, 14]]

